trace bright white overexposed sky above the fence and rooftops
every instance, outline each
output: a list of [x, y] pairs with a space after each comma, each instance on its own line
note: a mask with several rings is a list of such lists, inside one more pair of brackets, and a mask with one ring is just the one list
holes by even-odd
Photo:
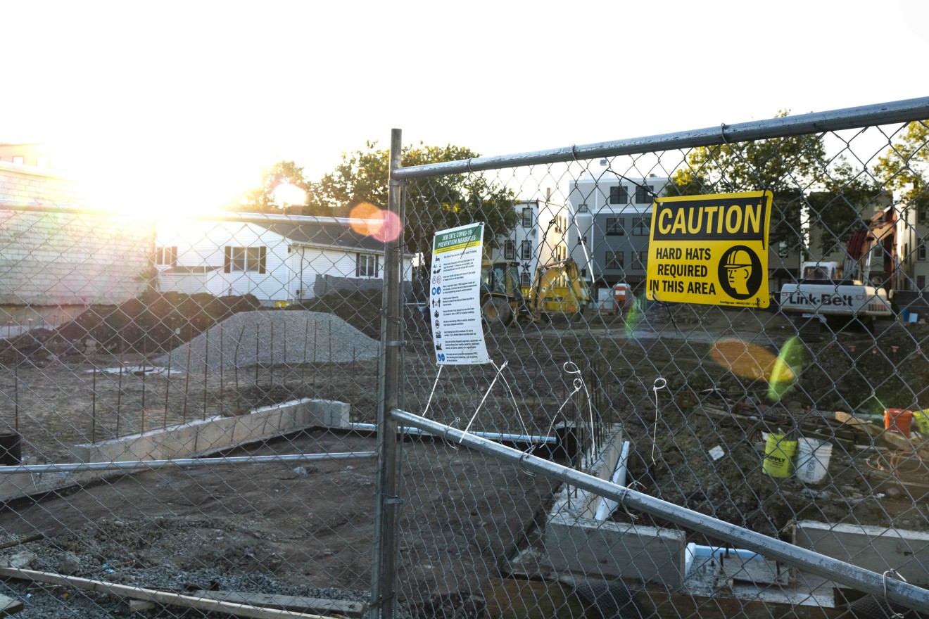
[[190, 209], [391, 128], [500, 155], [924, 97], [916, 0], [11, 2], [0, 142]]

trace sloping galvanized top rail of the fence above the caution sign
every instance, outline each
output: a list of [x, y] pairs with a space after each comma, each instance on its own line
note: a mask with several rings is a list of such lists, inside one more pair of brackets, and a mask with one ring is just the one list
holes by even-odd
[[909, 123], [925, 118], [929, 118], [929, 97], [918, 97], [859, 106], [857, 108], [845, 108], [844, 110], [783, 116], [751, 123], [724, 123], [714, 127], [679, 131], [672, 134], [648, 135], [609, 142], [595, 142], [594, 144], [583, 144], [581, 146], [534, 150], [514, 155], [476, 157], [463, 161], [413, 165], [395, 170], [394, 177], [410, 179], [441, 174], [464, 174], [481, 170], [517, 168], [522, 165], [580, 161], [598, 157], [635, 155], [656, 150], [695, 148], [732, 142], [748, 142], [770, 137], [842, 131], [844, 129], [868, 127], [874, 124]]

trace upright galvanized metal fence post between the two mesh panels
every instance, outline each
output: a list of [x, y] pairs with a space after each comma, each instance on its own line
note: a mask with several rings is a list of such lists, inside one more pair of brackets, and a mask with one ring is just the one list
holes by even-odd
[[[400, 215], [400, 186], [394, 171], [400, 165], [400, 130], [390, 135], [390, 193], [387, 209]], [[403, 235], [384, 243], [384, 300], [381, 316], [381, 358], [377, 393], [377, 475], [374, 493], [373, 562], [370, 619], [390, 619], [394, 614], [397, 584], [397, 422], [390, 411], [399, 403], [400, 310], [402, 308], [400, 263]]]

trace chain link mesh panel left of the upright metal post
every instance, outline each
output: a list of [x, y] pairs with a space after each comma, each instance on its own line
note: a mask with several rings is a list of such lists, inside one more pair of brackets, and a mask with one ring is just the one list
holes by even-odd
[[383, 244], [334, 218], [7, 207], [0, 600], [361, 616]]

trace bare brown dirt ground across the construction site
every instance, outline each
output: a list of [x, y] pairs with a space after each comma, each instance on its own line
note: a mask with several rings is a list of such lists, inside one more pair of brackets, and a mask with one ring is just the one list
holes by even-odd
[[[342, 311], [351, 322], [354, 308]], [[357, 326], [372, 329], [373, 317], [363, 320]], [[897, 325], [874, 336], [840, 327], [824, 330], [820, 338], [802, 338], [799, 357], [791, 359], [795, 380], [776, 402], [769, 393], [773, 360], [785, 356], [785, 343], [796, 335], [785, 316], [715, 307], [594, 316], [578, 325], [556, 319], [551, 325], [491, 332], [491, 359], [498, 366], [507, 363], [505, 380], [494, 382], [494, 368], [466, 367], [446, 368], [437, 382], [431, 336], [425, 321], [411, 316], [402, 406], [423, 413], [428, 403], [429, 417], [460, 428], [474, 416], [475, 429], [543, 434], [562, 421], [584, 424], [592, 408], [600, 424], [624, 425], [635, 451], [631, 476], [646, 492], [766, 535], [784, 535], [792, 519], [806, 518], [929, 530], [924, 504], [884, 484], [886, 475], [874, 472], [867, 461], [889, 452], [875, 450], [868, 439], [836, 433], [825, 420], [835, 410], [929, 406], [922, 401], [929, 384], [922, 342], [929, 331]], [[718, 343], [721, 339], [739, 342], [740, 352], [734, 355]], [[130, 355], [122, 359], [129, 365], [142, 361]], [[145, 428], [160, 427], [165, 393], [167, 423], [234, 414], [294, 397], [347, 401], [352, 420], [375, 419], [376, 361], [240, 368], [205, 378], [145, 375], [144, 385], [142, 375], [124, 375], [121, 382], [112, 374], [85, 371], [114, 367], [119, 360], [107, 354], [33, 357], [19, 368], [0, 371], [7, 426], [12, 425], [12, 395], [18, 394], [25, 457], [67, 460], [70, 445], [91, 437], [92, 424], [97, 440], [116, 433], [117, 419], [120, 434], [135, 432], [143, 427], [143, 411]], [[579, 373], [571, 373], [565, 366], [569, 362]], [[576, 379], [582, 379], [583, 389]], [[655, 392], [657, 379], [666, 380], [666, 387]], [[706, 390], [726, 393], [728, 404]], [[486, 400], [485, 393], [490, 393]], [[652, 463], [656, 394], [658, 457]], [[711, 414], [720, 407], [738, 407], [753, 421]], [[761, 432], [811, 422], [834, 435], [828, 483], [807, 487], [795, 478], [766, 476]], [[855, 443], [867, 448], [857, 449]], [[371, 445], [359, 437], [307, 435], [255, 453]], [[716, 445], [726, 451], [718, 461], [707, 455]], [[437, 613], [449, 600], [456, 600], [456, 612], [473, 611], [462, 611], [462, 616], [478, 616], [480, 582], [520, 543], [553, 488], [449, 445], [407, 444], [404, 462], [404, 599], [422, 616]], [[222, 588], [229, 587], [220, 582], [223, 574], [267, 574], [274, 585], [237, 581], [238, 586], [281, 592], [298, 590], [293, 587], [366, 589], [373, 462], [294, 469], [271, 465], [143, 473], [34, 505], [7, 506], [2, 520], [11, 534], [40, 530], [49, 535], [37, 543], [46, 548], [36, 551], [40, 558], [43, 552], [76, 548], [71, 551], [78, 554], [79, 574], [100, 575], [104, 562], [128, 561], [112, 574], [144, 586], [185, 587], [184, 579], [200, 578], [216, 580]], [[58, 555], [48, 556], [42, 565], [54, 568]], [[159, 572], [159, 566], [164, 570]], [[179, 580], [167, 574], [180, 574]]]

